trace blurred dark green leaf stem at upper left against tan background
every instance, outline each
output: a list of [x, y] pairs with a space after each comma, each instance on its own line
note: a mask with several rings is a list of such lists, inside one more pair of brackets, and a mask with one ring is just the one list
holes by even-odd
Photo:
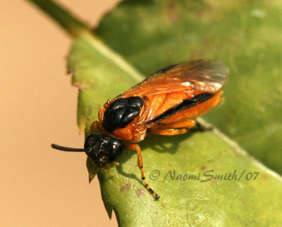
[[55, 20], [72, 37], [81, 37], [82, 33], [90, 32], [87, 24], [82, 22], [63, 6], [52, 0], [27, 0], [38, 6]]

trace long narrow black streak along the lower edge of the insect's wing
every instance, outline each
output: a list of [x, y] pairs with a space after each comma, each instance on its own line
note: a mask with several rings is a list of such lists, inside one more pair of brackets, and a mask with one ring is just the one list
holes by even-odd
[[184, 99], [178, 105], [175, 105], [172, 108], [169, 108], [168, 110], [163, 112], [161, 115], [145, 122], [145, 124], [161, 122], [163, 119], [166, 119], [167, 117], [171, 117], [172, 115], [175, 115], [176, 113], [180, 111], [186, 110], [188, 108], [192, 108], [195, 105], [203, 103], [204, 101], [208, 100], [209, 98], [212, 98], [212, 96], [214, 96], [213, 93], [201, 93], [200, 95], [194, 96], [191, 99]]

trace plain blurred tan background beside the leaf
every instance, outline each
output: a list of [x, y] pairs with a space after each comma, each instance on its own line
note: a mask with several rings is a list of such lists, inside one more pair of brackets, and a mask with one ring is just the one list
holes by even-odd
[[[118, 0], [61, 0], [97, 25]], [[66, 75], [71, 39], [24, 0], [0, 1], [0, 226], [117, 226], [88, 183], [78, 91]]]

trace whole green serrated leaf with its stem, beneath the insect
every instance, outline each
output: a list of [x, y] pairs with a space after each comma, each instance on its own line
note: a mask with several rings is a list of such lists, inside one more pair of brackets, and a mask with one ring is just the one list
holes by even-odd
[[[53, 1], [30, 1], [79, 38], [68, 70], [80, 89], [80, 130], [89, 130], [107, 98], [142, 79], [111, 48], [146, 75], [184, 57], [221, 58], [233, 74], [225, 103], [205, 118], [259, 158], [269, 148], [277, 151], [282, 89], [274, 60], [281, 60], [281, 18], [275, 17], [280, 1], [125, 1], [97, 30], [111, 48]], [[281, 225], [281, 176], [217, 129], [148, 134], [140, 145], [147, 180], [160, 200], [143, 186], [133, 151], [118, 159], [122, 166], [98, 173], [106, 210], [111, 216], [114, 209], [120, 226]], [[279, 169], [281, 153], [269, 153], [265, 162]], [[89, 159], [87, 168], [91, 180], [98, 169]]]

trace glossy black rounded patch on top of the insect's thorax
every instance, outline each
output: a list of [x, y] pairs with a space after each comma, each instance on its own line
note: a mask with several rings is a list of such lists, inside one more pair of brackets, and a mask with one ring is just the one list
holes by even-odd
[[113, 132], [116, 128], [124, 128], [139, 114], [142, 105], [140, 97], [118, 98], [104, 112], [104, 129]]

